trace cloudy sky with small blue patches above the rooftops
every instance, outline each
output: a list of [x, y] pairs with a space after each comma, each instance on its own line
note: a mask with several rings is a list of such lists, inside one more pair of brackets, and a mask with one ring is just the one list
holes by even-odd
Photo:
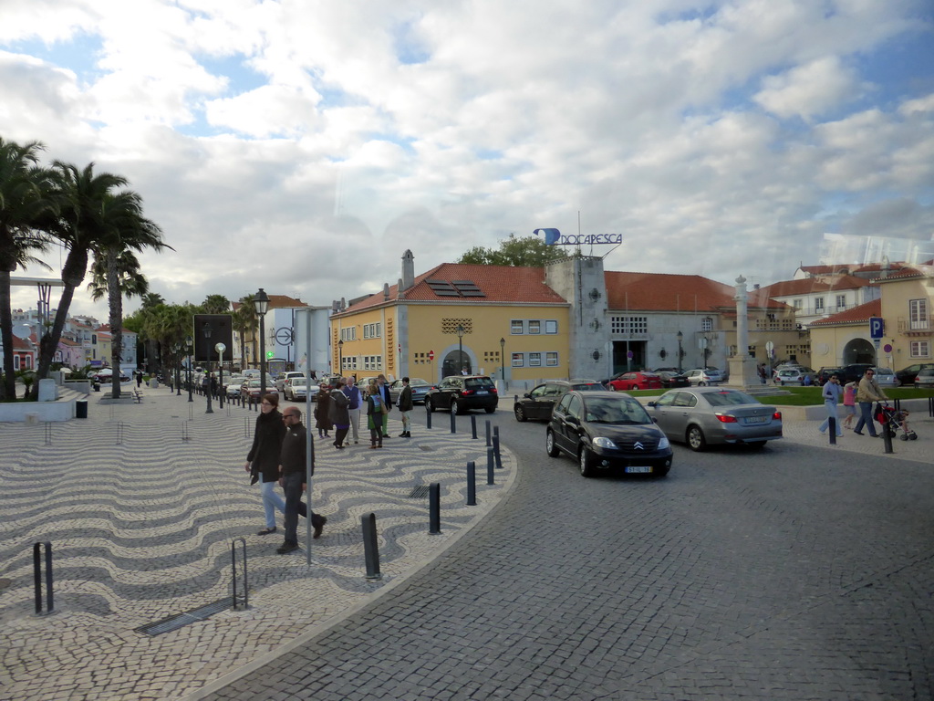
[[130, 179], [172, 302], [328, 305], [538, 227], [768, 284], [929, 257], [932, 28], [930, 0], [3, 0], [0, 136]]

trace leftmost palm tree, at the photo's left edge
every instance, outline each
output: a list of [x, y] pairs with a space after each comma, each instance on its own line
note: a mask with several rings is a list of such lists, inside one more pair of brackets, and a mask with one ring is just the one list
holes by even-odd
[[0, 396], [10, 399], [16, 392], [10, 276], [17, 267], [41, 264], [32, 253], [48, 245], [43, 229], [56, 206], [50, 171], [37, 165], [39, 150], [35, 141], [20, 146], [0, 138], [0, 341], [6, 350]]

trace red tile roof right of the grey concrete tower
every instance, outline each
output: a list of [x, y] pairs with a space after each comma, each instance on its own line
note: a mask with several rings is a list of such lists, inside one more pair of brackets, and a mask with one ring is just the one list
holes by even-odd
[[[640, 311], [735, 311], [735, 288], [702, 278], [700, 275], [669, 275], [665, 273], [624, 273], [609, 271], [606, 280], [607, 306], [611, 309]], [[761, 290], [750, 290], [749, 308], [788, 308]]]

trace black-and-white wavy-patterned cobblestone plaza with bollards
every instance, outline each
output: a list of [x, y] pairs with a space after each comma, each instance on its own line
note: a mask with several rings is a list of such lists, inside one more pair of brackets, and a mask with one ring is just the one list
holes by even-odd
[[[397, 586], [469, 532], [516, 474], [504, 451], [498, 484], [486, 484], [480, 416], [479, 440], [441, 426], [382, 451], [318, 441], [313, 505], [328, 523], [309, 568], [304, 550], [276, 554], [281, 533], [256, 535], [262, 504], [243, 469], [255, 412], [215, 404], [205, 415], [204, 397], [190, 404], [167, 389], [147, 389], [138, 405], [89, 404], [86, 421], [0, 423], [0, 699], [179, 698]], [[401, 430], [394, 417], [389, 426]], [[469, 460], [475, 507], [465, 506]], [[442, 534], [431, 536], [429, 500], [412, 493], [434, 481]], [[378, 581], [365, 578], [361, 516], [371, 512]], [[248, 610], [155, 637], [134, 631], [230, 596], [239, 537]], [[32, 548], [42, 541], [53, 547], [55, 607], [36, 617]]]

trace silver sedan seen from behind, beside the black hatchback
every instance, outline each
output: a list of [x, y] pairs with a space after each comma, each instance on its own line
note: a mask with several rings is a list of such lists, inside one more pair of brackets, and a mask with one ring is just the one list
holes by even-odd
[[692, 451], [712, 443], [745, 443], [761, 448], [782, 437], [782, 412], [749, 394], [719, 387], [672, 390], [648, 402], [649, 413], [672, 440]]

